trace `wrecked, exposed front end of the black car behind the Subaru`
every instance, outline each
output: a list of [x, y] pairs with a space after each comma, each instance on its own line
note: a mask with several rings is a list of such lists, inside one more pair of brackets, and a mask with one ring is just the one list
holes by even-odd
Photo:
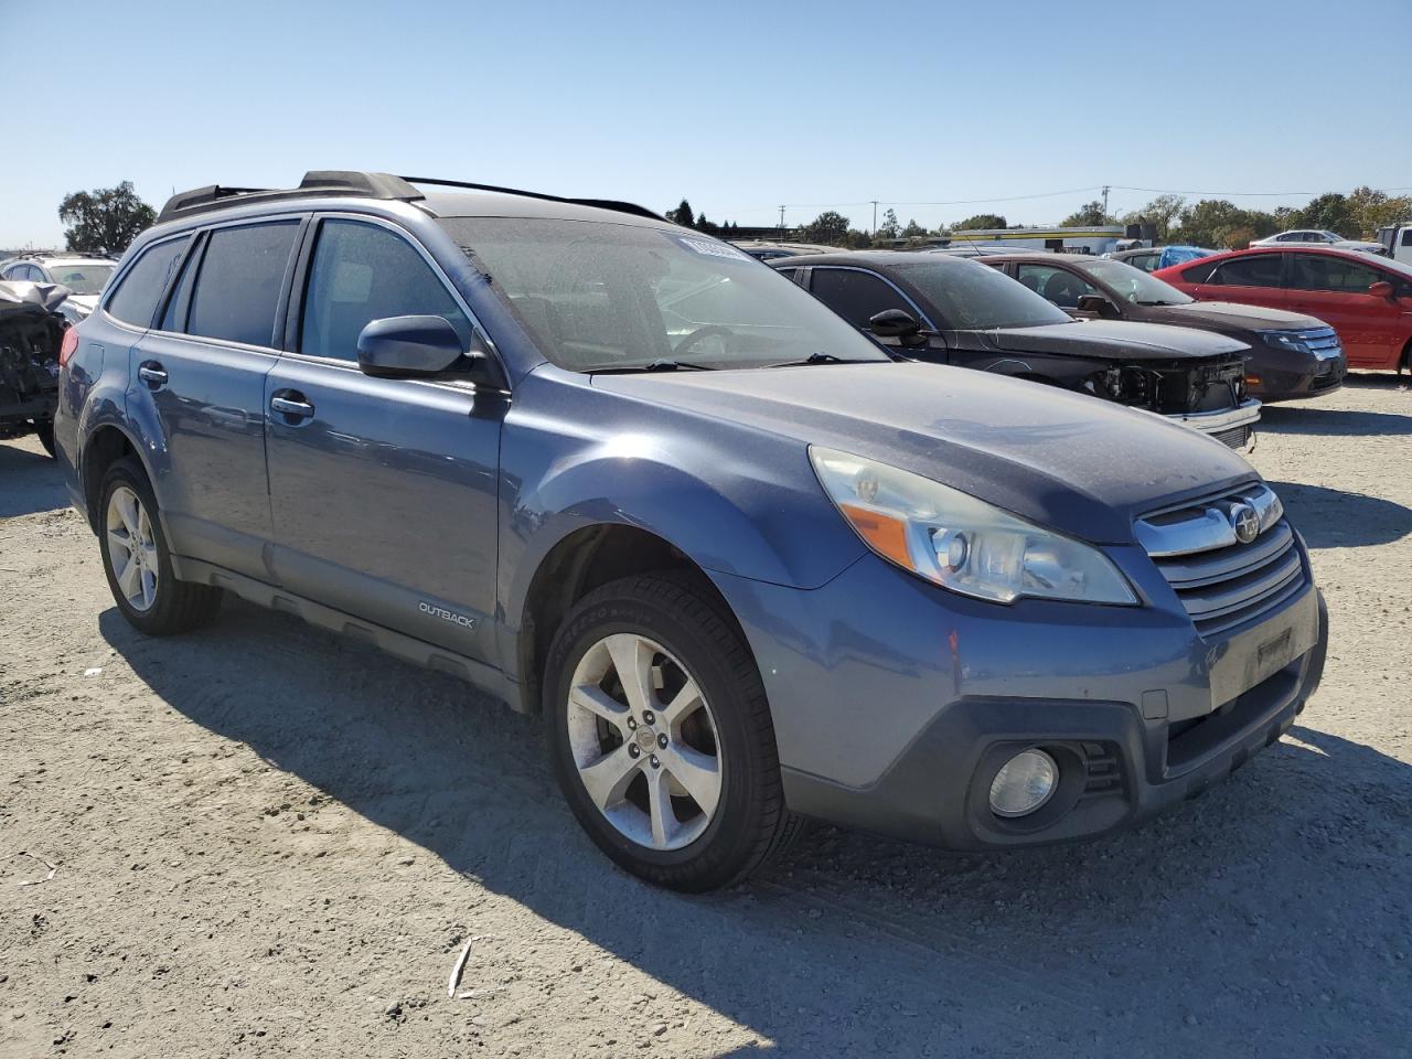
[[1255, 441], [1260, 401], [1245, 391], [1241, 356], [1113, 363], [1084, 388], [1200, 431], [1240, 452]]

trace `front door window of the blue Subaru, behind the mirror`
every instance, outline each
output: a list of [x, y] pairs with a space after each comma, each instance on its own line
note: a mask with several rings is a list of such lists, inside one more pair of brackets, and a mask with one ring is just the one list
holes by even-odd
[[426, 260], [394, 232], [359, 220], [325, 220], [304, 299], [299, 352], [357, 360], [371, 321], [441, 316], [467, 339], [470, 323]]

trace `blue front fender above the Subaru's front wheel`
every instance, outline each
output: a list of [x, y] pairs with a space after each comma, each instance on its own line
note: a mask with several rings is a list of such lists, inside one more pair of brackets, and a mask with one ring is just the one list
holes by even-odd
[[707, 572], [796, 589], [827, 583], [863, 554], [805, 445], [589, 387], [572, 418], [551, 419], [524, 393], [534, 380], [517, 393], [501, 445], [498, 594], [510, 630], [545, 556], [587, 527], [644, 530]]

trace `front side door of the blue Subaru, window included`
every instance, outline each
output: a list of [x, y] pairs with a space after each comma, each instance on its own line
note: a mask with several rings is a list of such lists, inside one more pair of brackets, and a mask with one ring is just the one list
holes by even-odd
[[265, 380], [274, 568], [289, 592], [494, 659], [500, 428], [507, 398], [470, 383], [371, 378], [374, 319], [472, 322], [405, 233], [319, 222], [292, 352]]

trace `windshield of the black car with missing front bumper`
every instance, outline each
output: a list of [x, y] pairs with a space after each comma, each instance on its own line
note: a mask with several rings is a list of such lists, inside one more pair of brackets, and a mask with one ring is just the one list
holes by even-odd
[[1041, 323], [1073, 323], [1067, 312], [1024, 284], [988, 265], [949, 258], [891, 267], [936, 306], [938, 326], [950, 330], [1036, 328]]

